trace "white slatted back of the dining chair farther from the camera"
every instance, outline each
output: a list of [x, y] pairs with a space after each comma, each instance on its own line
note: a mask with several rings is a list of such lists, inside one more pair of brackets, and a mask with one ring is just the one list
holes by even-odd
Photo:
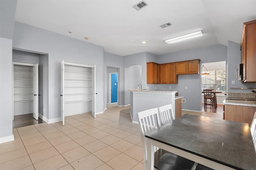
[[158, 113], [160, 115], [161, 126], [174, 120], [172, 104], [158, 107]]

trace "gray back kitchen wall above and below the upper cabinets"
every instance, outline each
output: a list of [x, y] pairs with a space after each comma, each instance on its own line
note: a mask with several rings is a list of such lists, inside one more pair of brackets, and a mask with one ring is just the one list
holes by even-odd
[[[170, 63], [177, 61], [186, 61], [192, 59], [201, 59], [200, 63], [209, 63], [216, 61], [227, 61], [228, 48], [224, 45], [211, 45], [197, 49], [179, 51], [157, 57], [156, 63]], [[150, 62], [150, 61], [147, 61]], [[200, 69], [202, 64], [200, 64]], [[178, 76], [178, 84], [148, 84], [151, 88], [178, 90], [179, 96], [186, 99], [186, 103], [182, 104], [182, 109], [201, 111], [202, 110], [202, 90], [201, 90], [201, 74], [180, 75]], [[186, 86], [188, 87], [186, 89]]]

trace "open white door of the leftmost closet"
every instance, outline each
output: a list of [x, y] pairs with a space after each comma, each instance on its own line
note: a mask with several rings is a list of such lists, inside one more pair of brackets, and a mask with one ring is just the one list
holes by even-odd
[[33, 117], [38, 120], [38, 64], [33, 66]]

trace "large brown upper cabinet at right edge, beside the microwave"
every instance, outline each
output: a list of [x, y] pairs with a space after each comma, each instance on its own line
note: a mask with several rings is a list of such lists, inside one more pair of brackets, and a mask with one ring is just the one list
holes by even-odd
[[244, 23], [241, 39], [242, 82], [256, 82], [256, 20]]

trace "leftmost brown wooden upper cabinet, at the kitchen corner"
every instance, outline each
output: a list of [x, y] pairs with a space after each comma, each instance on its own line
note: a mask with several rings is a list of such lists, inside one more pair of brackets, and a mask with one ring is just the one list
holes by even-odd
[[147, 84], [159, 83], [159, 64], [147, 63]]

